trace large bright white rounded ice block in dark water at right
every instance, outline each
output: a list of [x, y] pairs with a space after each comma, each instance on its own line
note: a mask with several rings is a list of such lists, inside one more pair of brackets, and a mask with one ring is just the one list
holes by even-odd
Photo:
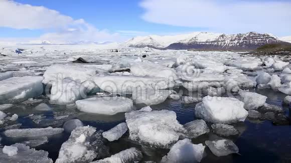
[[196, 117], [213, 123], [234, 123], [244, 121], [247, 111], [244, 103], [231, 97], [206, 96], [195, 106]]

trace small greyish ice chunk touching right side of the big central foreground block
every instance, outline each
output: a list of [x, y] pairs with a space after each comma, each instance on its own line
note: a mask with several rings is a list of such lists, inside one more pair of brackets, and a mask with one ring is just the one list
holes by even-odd
[[184, 124], [184, 127], [187, 130], [188, 136], [190, 136], [191, 138], [196, 138], [210, 131], [206, 122], [202, 119], [188, 122]]

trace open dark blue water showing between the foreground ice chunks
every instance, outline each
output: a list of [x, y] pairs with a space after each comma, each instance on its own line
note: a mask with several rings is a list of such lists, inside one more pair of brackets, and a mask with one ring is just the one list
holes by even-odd
[[[266, 95], [268, 97], [267, 103], [278, 106], [281, 106], [281, 102], [286, 96], [283, 93], [274, 92], [270, 89], [256, 90], [256, 92]], [[45, 101], [48, 103], [48, 100], [45, 99]], [[19, 114], [20, 117], [18, 122], [23, 124], [23, 128], [28, 128], [39, 126], [27, 117], [27, 115], [31, 113], [42, 113], [47, 116], [47, 119], [53, 119], [52, 111], [62, 111], [65, 109], [65, 106], [49, 104], [54, 108], [52, 111], [37, 112], [33, 109], [35, 105], [37, 104], [29, 106], [17, 105], [15, 108], [10, 109], [9, 112]], [[136, 106], [137, 109], [141, 107], [142, 106]], [[195, 103], [182, 104], [180, 101], [167, 100], [162, 104], [152, 106], [152, 108], [154, 110], [169, 109], [175, 111], [177, 113], [177, 119], [181, 124], [185, 124], [196, 119], [194, 115]], [[284, 106], [284, 109], [285, 113], [290, 116], [290, 108]], [[118, 123], [125, 121], [124, 113], [108, 116], [80, 113], [78, 111], [76, 112], [78, 113], [77, 118], [82, 120], [85, 125], [94, 126], [97, 130], [108, 130]], [[62, 126], [62, 123], [58, 125]], [[246, 119], [245, 122], [234, 124], [234, 126], [240, 131], [240, 135], [227, 138], [230, 138], [235, 142], [239, 148], [239, 154], [230, 154], [227, 156], [217, 157], [206, 147], [205, 149], [207, 155], [201, 162], [291, 162], [290, 125], [276, 126], [269, 120], [254, 121]], [[49, 156], [55, 160], [58, 157], [58, 152], [62, 143], [67, 140], [68, 137], [69, 134], [67, 133], [51, 136], [49, 137], [48, 143], [37, 147], [37, 149], [48, 151]], [[217, 135], [210, 132], [209, 134], [202, 135], [192, 141], [193, 143], [204, 143], [205, 140], [215, 140], [217, 137]], [[15, 142], [20, 142], [21, 140], [22, 139], [12, 139], [3, 136], [2, 144], [10, 145]], [[126, 135], [117, 141], [108, 142], [107, 145], [110, 147], [111, 154], [134, 146], [143, 152], [144, 160], [156, 160], [158, 162], [161, 160], [162, 156], [169, 151], [169, 149], [154, 149], [133, 144], [126, 139]]]

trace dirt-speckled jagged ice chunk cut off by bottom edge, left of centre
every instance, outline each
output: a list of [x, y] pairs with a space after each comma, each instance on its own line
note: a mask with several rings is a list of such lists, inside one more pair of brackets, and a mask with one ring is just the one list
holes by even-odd
[[101, 138], [96, 135], [95, 127], [75, 128], [69, 139], [62, 144], [56, 163], [91, 162], [98, 154], [97, 147], [101, 147], [93, 142], [94, 138]]

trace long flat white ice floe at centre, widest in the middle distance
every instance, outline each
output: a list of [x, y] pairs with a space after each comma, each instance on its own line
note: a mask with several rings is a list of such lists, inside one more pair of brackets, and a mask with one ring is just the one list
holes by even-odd
[[102, 90], [113, 94], [132, 94], [140, 88], [167, 89], [175, 85], [166, 78], [149, 76], [100, 75], [93, 80]]

